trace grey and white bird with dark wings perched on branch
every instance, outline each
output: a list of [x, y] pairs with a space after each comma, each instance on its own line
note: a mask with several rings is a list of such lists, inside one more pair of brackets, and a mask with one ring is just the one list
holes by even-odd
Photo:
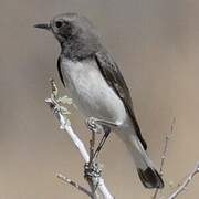
[[82, 116], [115, 124], [109, 128], [129, 150], [144, 187], [164, 188], [147, 155], [129, 88], [93, 23], [77, 13], [62, 13], [34, 27], [52, 32], [60, 43], [59, 75]]

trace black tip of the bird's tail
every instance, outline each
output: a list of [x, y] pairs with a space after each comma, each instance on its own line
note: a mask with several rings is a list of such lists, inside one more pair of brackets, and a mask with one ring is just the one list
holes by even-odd
[[164, 188], [164, 181], [156, 169], [148, 167], [146, 170], [137, 169], [143, 185], [148, 188]]

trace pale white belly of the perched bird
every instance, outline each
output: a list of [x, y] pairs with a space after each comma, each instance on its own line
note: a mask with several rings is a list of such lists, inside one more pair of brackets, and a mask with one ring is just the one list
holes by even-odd
[[65, 85], [85, 117], [123, 124], [126, 111], [121, 98], [108, 86], [94, 61], [84, 63], [62, 60]]

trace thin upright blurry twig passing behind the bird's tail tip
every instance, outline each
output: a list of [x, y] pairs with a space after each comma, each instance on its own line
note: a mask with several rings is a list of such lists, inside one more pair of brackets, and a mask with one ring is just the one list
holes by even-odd
[[[165, 160], [166, 160], [167, 153], [168, 153], [168, 144], [169, 144], [169, 140], [170, 140], [170, 136], [174, 133], [175, 124], [176, 124], [176, 118], [172, 119], [172, 123], [171, 123], [171, 126], [170, 126], [170, 132], [167, 132], [166, 136], [165, 136], [165, 147], [164, 147], [164, 151], [163, 151], [163, 156], [161, 156], [161, 161], [160, 161], [160, 168], [159, 168], [159, 175], [161, 177], [164, 175], [163, 171], [164, 171]], [[158, 192], [159, 192], [159, 189], [156, 189], [155, 192], [154, 192], [153, 199], [157, 198]]]

